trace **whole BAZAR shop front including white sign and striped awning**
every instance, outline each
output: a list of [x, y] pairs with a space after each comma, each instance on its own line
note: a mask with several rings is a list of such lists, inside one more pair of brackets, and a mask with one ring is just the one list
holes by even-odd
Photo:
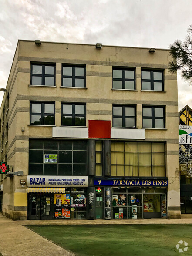
[[28, 219], [87, 219], [88, 176], [27, 176]]

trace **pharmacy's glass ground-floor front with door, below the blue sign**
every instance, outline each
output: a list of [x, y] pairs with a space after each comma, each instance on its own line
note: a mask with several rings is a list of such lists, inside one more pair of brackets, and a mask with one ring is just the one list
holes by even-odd
[[166, 188], [95, 189], [96, 219], [167, 218]]

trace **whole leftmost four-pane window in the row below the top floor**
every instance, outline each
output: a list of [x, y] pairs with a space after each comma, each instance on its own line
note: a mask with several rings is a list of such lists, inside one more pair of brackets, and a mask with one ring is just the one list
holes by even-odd
[[30, 102], [30, 125], [55, 125], [55, 103]]

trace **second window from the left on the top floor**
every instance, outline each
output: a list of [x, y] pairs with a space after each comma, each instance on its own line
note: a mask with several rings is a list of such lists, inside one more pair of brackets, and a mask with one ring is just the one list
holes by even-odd
[[62, 67], [62, 86], [66, 87], [86, 87], [84, 66]]

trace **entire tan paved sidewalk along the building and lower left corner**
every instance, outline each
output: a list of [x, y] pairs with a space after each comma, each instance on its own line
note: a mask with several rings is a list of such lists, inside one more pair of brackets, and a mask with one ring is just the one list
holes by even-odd
[[192, 224], [192, 214], [182, 219], [114, 220], [26, 220], [13, 221], [0, 214], [0, 253], [3, 256], [74, 256], [23, 225], [98, 225], [98, 224]]

